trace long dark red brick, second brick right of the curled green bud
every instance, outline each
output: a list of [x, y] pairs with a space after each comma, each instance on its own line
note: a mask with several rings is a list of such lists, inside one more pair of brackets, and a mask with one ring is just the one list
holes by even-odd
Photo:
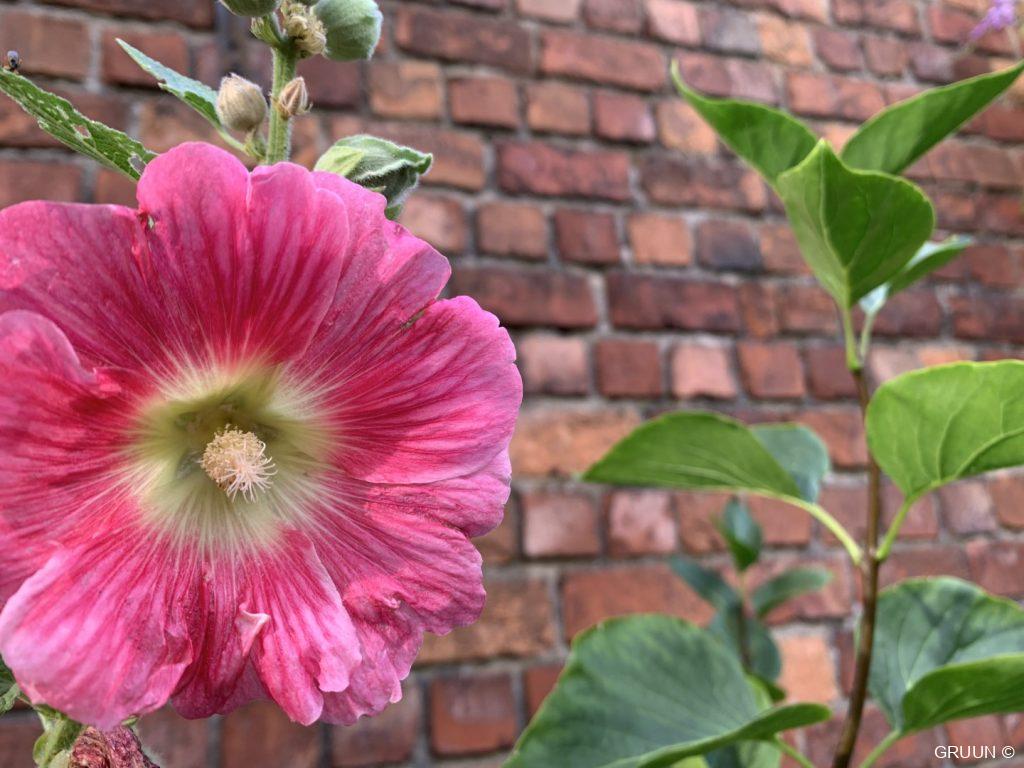
[[539, 142], [498, 146], [498, 183], [507, 193], [625, 201], [630, 159], [621, 152], [571, 151]]

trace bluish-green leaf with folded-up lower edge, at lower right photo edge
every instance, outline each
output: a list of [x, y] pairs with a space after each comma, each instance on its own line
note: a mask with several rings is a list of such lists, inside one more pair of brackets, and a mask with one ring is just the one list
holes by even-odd
[[958, 579], [879, 597], [868, 681], [895, 731], [1024, 709], [1024, 609]]

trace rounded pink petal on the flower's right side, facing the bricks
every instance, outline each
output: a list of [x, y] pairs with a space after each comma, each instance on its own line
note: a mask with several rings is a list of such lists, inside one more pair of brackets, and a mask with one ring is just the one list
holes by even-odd
[[508, 445], [522, 399], [508, 333], [467, 297], [431, 304], [323, 386], [338, 465], [371, 482], [481, 469]]

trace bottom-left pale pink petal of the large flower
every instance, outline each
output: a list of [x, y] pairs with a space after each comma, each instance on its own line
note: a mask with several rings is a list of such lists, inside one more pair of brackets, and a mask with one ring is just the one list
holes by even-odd
[[113, 728], [162, 707], [191, 660], [194, 578], [129, 528], [61, 549], [0, 612], [0, 653], [33, 701]]

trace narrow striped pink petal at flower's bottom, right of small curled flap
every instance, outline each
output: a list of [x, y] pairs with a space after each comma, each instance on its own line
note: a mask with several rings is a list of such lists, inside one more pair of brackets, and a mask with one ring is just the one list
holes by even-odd
[[325, 691], [344, 690], [361, 659], [337, 587], [305, 536], [288, 534], [273, 556], [246, 566], [243, 610], [268, 616], [252, 647], [266, 692], [292, 720], [309, 725]]

